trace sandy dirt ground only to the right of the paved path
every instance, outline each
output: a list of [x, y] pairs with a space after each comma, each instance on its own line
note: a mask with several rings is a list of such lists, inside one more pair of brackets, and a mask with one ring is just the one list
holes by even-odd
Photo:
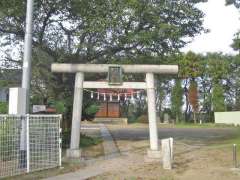
[[108, 126], [121, 156], [98, 162], [107, 172], [99, 179], [159, 180], [239, 180], [240, 170], [233, 170], [231, 146], [219, 145], [236, 129], [159, 129], [159, 138], [174, 137], [173, 170], [162, 169], [160, 162], [147, 163], [149, 147], [147, 125]]

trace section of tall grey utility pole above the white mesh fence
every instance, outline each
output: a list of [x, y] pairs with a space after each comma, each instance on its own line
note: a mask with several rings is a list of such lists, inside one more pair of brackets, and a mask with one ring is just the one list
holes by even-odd
[[25, 91], [24, 96], [24, 114], [29, 113], [29, 94], [31, 82], [31, 58], [32, 58], [32, 26], [33, 26], [33, 3], [34, 0], [27, 0], [26, 12], [26, 30], [24, 39], [24, 59], [22, 67], [22, 88]]

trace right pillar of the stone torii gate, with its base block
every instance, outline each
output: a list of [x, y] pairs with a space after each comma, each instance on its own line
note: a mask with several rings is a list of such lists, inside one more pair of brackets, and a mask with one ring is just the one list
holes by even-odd
[[154, 85], [154, 74], [146, 74], [147, 85], [147, 101], [148, 101], [148, 121], [149, 121], [149, 136], [150, 136], [150, 149], [147, 152], [148, 158], [159, 159], [161, 158], [161, 151], [158, 144], [158, 128], [156, 117], [156, 93]]

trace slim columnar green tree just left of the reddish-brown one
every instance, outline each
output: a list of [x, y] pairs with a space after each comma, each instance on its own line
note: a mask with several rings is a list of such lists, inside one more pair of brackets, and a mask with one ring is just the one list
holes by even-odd
[[171, 111], [176, 118], [176, 122], [179, 122], [179, 120], [181, 120], [180, 118], [182, 114], [182, 105], [183, 105], [182, 83], [181, 80], [176, 79], [171, 93]]

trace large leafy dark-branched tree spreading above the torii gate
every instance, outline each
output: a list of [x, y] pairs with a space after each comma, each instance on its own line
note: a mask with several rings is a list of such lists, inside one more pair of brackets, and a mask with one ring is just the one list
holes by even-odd
[[[121, 63], [129, 59], [130, 63], [148, 63], [149, 59], [165, 63], [167, 56], [187, 43], [185, 38], [204, 30], [203, 13], [195, 6], [199, 2], [205, 0], [35, 1], [31, 96], [41, 97], [43, 103], [65, 101], [70, 116], [74, 76], [52, 74], [51, 63]], [[18, 59], [6, 55], [3, 60], [21, 67], [26, 0], [1, 0], [0, 7], [0, 47], [18, 47], [20, 54]]]

